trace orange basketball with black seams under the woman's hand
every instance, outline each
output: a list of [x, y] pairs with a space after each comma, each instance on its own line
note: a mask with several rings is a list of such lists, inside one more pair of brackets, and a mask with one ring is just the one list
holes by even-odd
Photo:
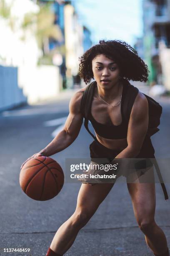
[[20, 171], [20, 186], [28, 197], [45, 201], [55, 197], [64, 184], [60, 164], [47, 156], [37, 156], [27, 161]]

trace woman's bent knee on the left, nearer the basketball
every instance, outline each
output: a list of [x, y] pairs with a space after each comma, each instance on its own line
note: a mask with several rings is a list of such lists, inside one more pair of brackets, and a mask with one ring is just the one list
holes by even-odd
[[78, 228], [82, 228], [92, 217], [92, 212], [87, 209], [76, 210], [72, 215], [72, 225]]

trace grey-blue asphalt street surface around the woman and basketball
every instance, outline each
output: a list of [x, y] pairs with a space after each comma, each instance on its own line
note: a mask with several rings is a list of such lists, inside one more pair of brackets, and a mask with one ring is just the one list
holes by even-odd
[[[72, 215], [80, 184], [65, 183], [60, 194], [40, 202], [27, 197], [20, 188], [20, 165], [52, 140], [60, 125], [45, 122], [64, 118], [68, 100], [48, 105], [26, 106], [0, 113], [0, 255], [3, 248], [30, 248], [25, 255], [44, 256], [60, 225]], [[160, 99], [163, 116], [160, 132], [153, 136], [156, 156], [170, 158], [170, 100]], [[76, 141], [52, 156], [65, 171], [65, 158], [89, 157], [92, 138], [84, 126]], [[167, 184], [170, 195], [170, 184]], [[165, 201], [160, 184], [156, 184], [156, 222], [164, 230], [170, 247], [170, 200]], [[138, 228], [126, 184], [115, 184], [99, 209], [80, 230], [65, 256], [151, 256], [143, 233]]]

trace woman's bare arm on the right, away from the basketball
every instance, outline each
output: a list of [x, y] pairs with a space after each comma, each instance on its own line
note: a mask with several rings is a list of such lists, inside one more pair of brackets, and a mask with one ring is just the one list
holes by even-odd
[[148, 100], [141, 92], [138, 93], [130, 114], [128, 124], [128, 146], [115, 158], [135, 158], [143, 145], [148, 131]]

